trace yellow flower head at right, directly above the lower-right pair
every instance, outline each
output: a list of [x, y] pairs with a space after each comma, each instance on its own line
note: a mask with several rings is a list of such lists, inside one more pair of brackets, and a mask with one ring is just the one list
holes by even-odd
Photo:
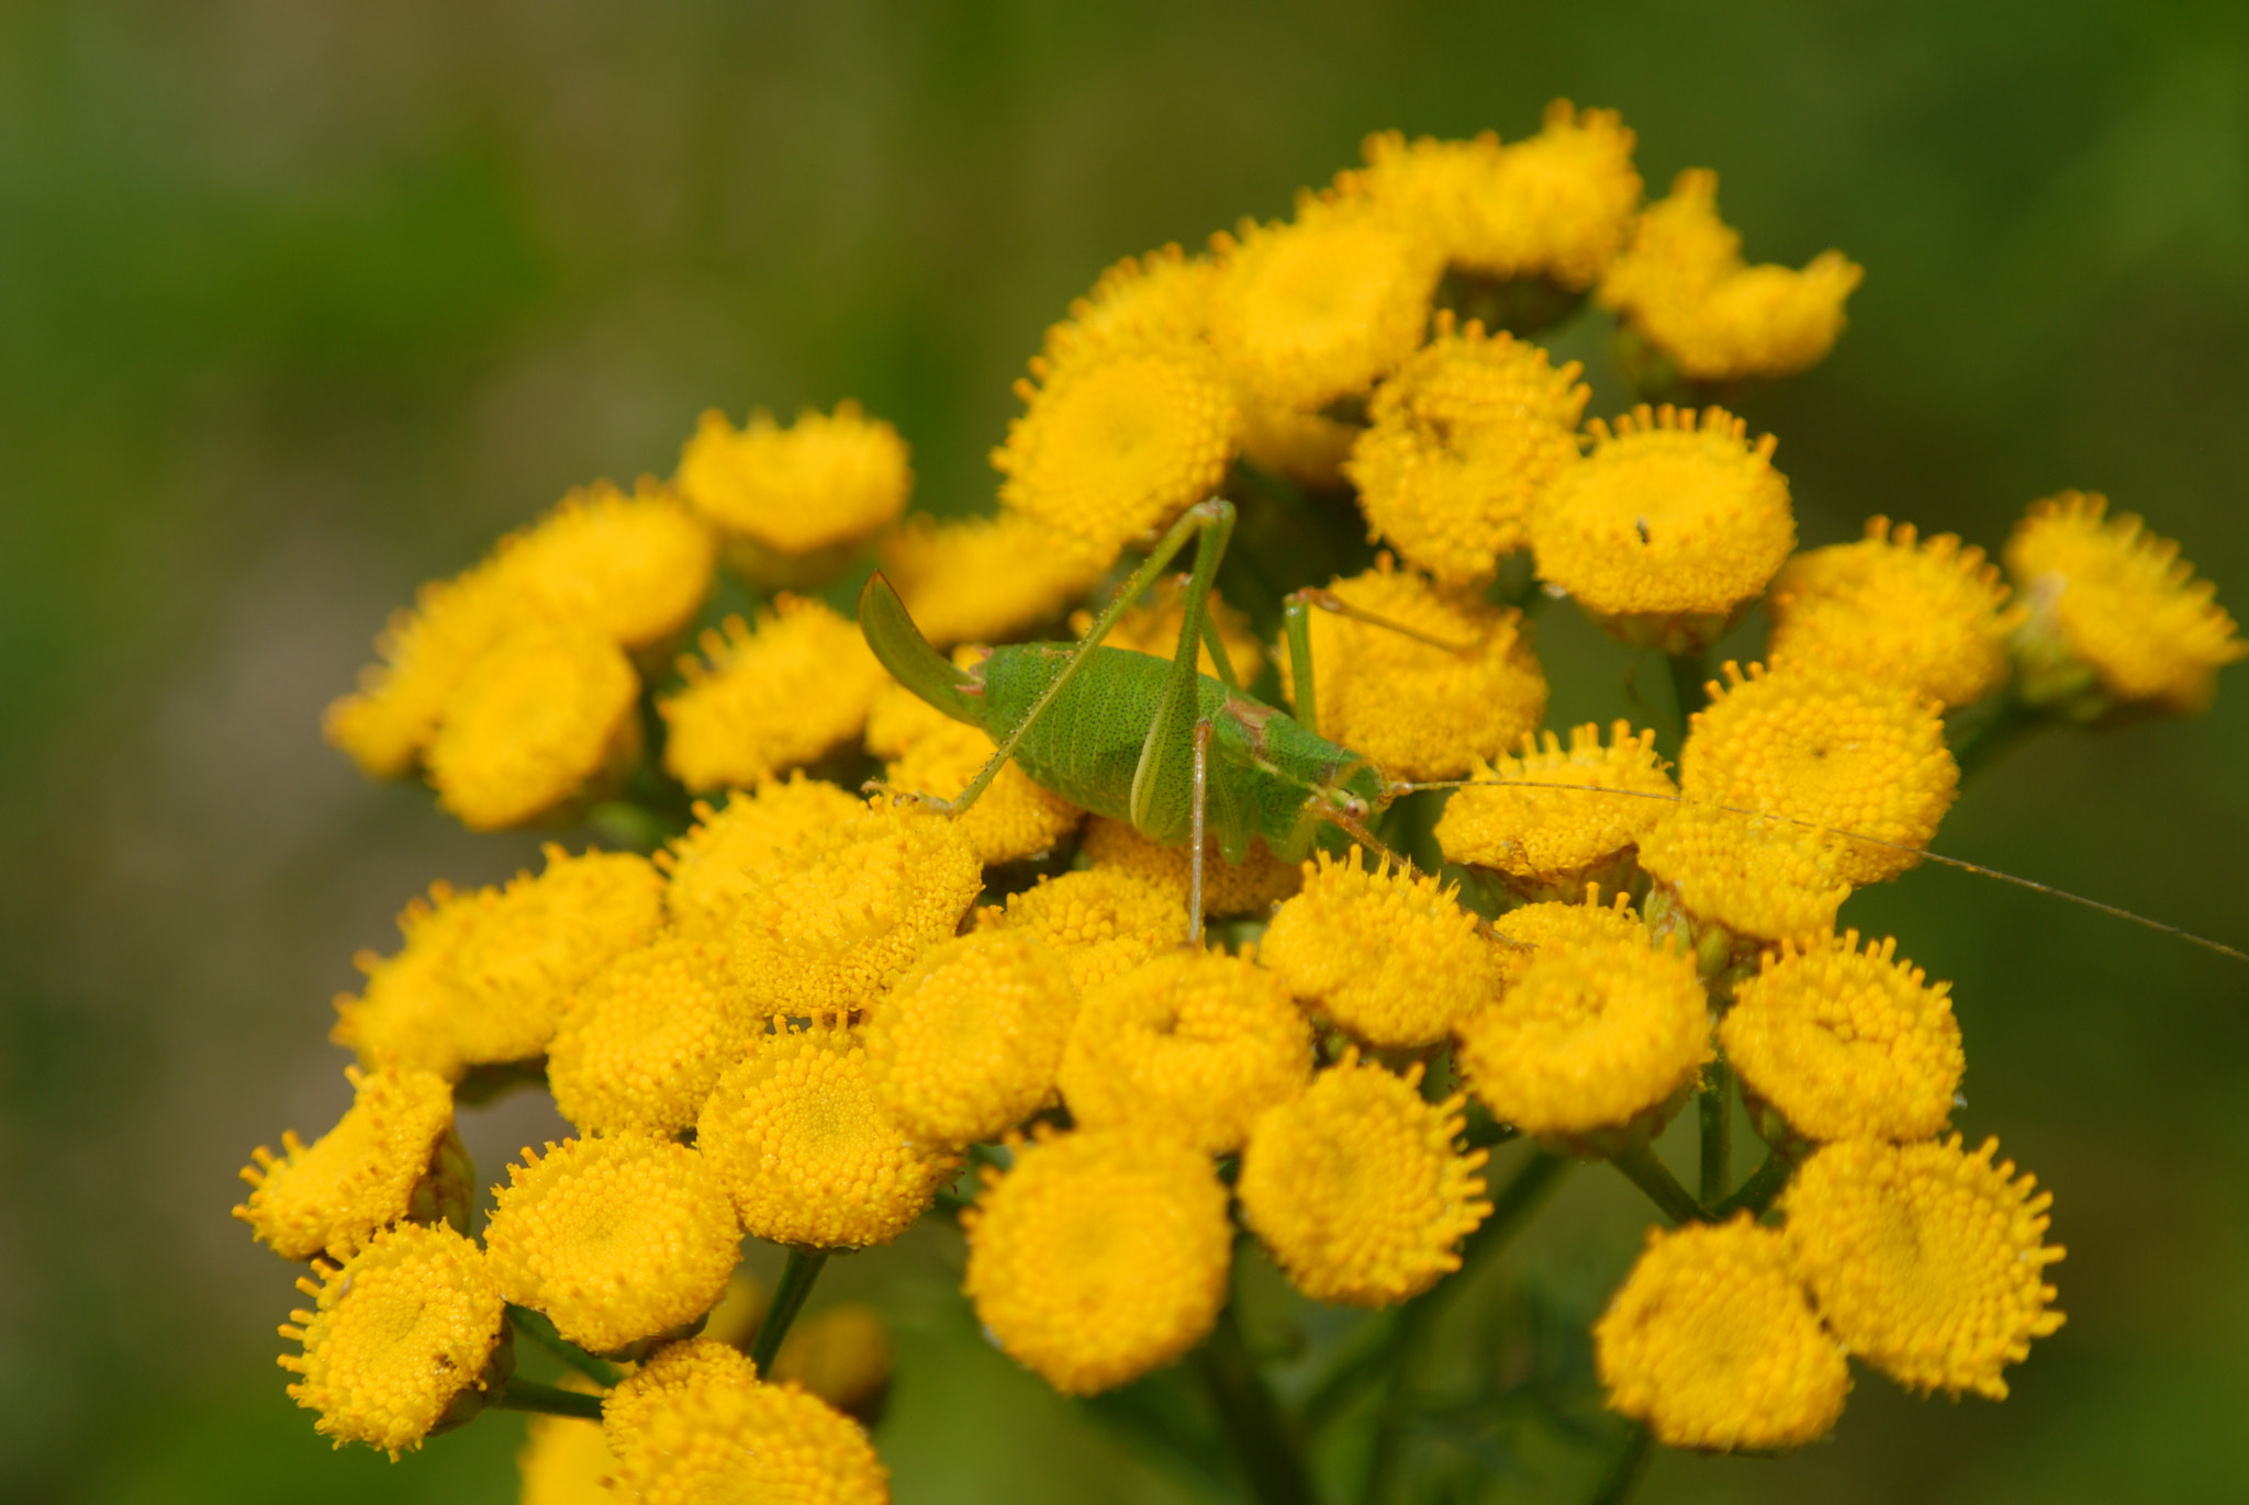
[[1718, 1024], [1743, 1096], [1815, 1141], [1943, 1129], [1968, 1066], [1952, 985], [1927, 985], [1896, 952], [1894, 938], [1860, 952], [1858, 931], [1765, 952]]

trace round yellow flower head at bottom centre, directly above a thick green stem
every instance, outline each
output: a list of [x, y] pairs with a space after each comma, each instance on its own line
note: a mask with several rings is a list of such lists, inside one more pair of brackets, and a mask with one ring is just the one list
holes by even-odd
[[976, 1318], [1064, 1395], [1178, 1359], [1226, 1303], [1226, 1188], [1163, 1134], [1041, 1134], [960, 1222]]

